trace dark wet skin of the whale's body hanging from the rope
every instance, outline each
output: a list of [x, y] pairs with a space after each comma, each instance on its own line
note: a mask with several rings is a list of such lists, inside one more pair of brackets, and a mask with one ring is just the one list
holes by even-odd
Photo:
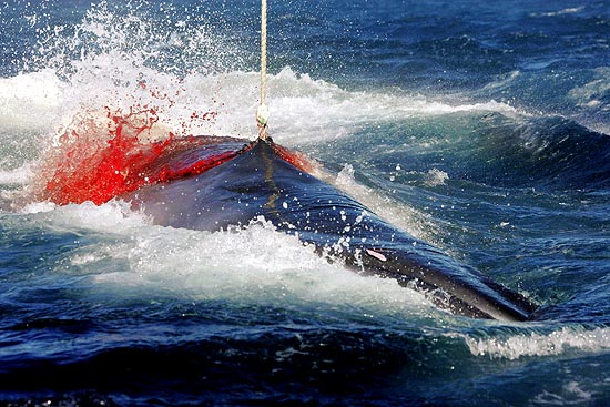
[[271, 140], [220, 138], [167, 155], [174, 171], [217, 151], [236, 154], [197, 175], [122, 195], [155, 224], [218, 231], [264, 216], [279, 231], [359, 273], [430, 293], [443, 308], [475, 318], [527, 320], [533, 306], [437, 247], [386, 223], [344, 192], [293, 165]]

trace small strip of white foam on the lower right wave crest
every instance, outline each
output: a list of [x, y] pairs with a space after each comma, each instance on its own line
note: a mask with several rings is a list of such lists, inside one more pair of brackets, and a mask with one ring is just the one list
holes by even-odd
[[466, 344], [472, 355], [511, 360], [527, 356], [560, 355], [568, 349], [598, 353], [610, 349], [610, 328], [562, 327], [549, 334], [530, 332], [508, 337], [466, 337]]

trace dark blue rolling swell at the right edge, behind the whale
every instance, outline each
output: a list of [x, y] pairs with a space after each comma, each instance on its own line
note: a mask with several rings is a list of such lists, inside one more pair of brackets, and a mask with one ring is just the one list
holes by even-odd
[[[360, 132], [359, 161], [375, 162], [399, 182], [440, 172], [445, 180], [494, 187], [591, 190], [610, 185], [610, 136], [559, 116], [469, 111], [414, 118]], [[342, 143], [338, 149], [355, 149]], [[380, 156], [377, 156], [380, 155]], [[331, 160], [336, 159], [333, 156]], [[395, 171], [396, 163], [401, 171]], [[417, 184], [425, 184], [425, 182]], [[425, 186], [425, 185], [423, 185]]]

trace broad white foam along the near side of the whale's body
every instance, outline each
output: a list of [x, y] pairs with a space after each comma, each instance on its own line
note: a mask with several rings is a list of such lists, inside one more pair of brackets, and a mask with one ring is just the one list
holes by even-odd
[[62, 262], [58, 272], [90, 276], [98, 294], [128, 289], [131, 296], [144, 297], [171, 293], [195, 301], [326, 304], [369, 317], [443, 314], [395, 279], [362, 276], [329, 264], [312, 246], [262, 218], [247, 227], [201, 232], [151, 225], [128, 204], [114, 201], [101, 206], [35, 204], [23, 213], [54, 232], [96, 232], [88, 235], [100, 242], [75, 248], [72, 267]]

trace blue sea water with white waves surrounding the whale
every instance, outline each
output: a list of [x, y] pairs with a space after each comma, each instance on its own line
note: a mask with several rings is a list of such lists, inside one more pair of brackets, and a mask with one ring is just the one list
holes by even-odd
[[0, 4], [0, 405], [609, 405], [608, 1], [270, 0], [274, 140], [526, 295], [532, 322], [447, 314], [266, 222], [23, 201], [104, 106], [255, 136], [258, 12]]

